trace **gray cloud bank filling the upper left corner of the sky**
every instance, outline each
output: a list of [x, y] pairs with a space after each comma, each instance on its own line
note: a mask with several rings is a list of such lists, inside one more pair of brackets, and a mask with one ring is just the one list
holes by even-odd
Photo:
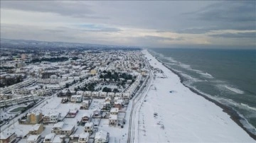
[[92, 11], [92, 6], [81, 1], [1, 1], [1, 8], [16, 9], [21, 11], [37, 11], [44, 13], [57, 13], [61, 16], [75, 18], [107, 18], [97, 16]]

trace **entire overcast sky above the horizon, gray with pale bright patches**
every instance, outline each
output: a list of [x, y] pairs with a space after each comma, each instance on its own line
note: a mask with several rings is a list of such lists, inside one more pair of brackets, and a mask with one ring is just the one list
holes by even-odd
[[256, 1], [1, 1], [1, 38], [256, 47]]

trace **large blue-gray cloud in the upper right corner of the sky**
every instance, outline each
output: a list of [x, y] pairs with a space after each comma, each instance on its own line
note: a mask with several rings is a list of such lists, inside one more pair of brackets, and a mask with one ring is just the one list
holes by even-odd
[[255, 30], [255, 6], [256, 1], [221, 1], [184, 16], [200, 21], [207, 29]]

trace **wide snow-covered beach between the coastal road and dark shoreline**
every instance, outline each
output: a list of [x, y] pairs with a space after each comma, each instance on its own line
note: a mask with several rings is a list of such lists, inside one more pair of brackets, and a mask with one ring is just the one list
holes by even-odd
[[137, 142], [255, 142], [220, 107], [183, 86], [149, 52], [143, 53], [167, 78], [156, 77], [144, 98]]

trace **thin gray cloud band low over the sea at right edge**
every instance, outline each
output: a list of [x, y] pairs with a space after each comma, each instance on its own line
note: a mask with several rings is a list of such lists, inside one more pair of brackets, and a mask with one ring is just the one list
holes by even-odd
[[223, 33], [223, 34], [213, 34], [212, 37], [218, 38], [256, 38], [256, 32], [247, 33]]

